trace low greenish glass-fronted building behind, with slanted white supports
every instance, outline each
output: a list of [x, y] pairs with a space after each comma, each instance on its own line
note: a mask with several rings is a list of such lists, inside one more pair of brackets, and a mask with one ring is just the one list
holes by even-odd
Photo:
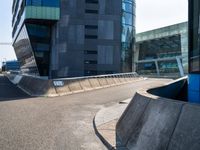
[[133, 62], [133, 70], [140, 74], [187, 74], [188, 23], [137, 34]]

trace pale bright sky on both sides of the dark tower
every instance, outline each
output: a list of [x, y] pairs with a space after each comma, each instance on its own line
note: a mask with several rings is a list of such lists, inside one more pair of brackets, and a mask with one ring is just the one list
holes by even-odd
[[[0, 1], [0, 43], [12, 42], [12, 1]], [[187, 21], [188, 0], [136, 0], [136, 32], [144, 32]], [[3, 60], [15, 60], [12, 46], [0, 45]]]

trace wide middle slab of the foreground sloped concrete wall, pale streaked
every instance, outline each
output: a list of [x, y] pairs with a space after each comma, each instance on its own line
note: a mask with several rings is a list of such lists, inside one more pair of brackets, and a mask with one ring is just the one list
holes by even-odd
[[137, 150], [167, 148], [181, 112], [182, 103], [164, 98], [152, 100], [143, 117], [132, 129], [127, 147]]

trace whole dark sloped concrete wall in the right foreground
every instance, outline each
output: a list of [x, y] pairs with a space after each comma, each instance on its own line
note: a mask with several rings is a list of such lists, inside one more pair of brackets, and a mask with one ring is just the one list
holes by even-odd
[[136, 93], [119, 119], [117, 146], [131, 150], [199, 150], [200, 105], [146, 91]]

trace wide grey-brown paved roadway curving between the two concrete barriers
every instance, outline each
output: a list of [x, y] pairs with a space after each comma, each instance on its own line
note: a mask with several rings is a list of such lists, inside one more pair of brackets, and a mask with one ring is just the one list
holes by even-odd
[[4, 80], [1, 77], [0, 150], [104, 150], [94, 132], [95, 114], [131, 98], [143, 86], [169, 81], [147, 79], [63, 97], [25, 98]]

